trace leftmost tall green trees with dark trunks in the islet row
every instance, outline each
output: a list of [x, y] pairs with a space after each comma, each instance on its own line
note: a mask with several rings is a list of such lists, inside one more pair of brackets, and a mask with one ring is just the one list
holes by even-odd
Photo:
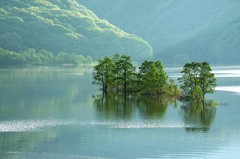
[[106, 56], [94, 67], [93, 84], [101, 85], [103, 94], [110, 91], [126, 94], [132, 88], [135, 71], [130, 56], [115, 54], [113, 59]]

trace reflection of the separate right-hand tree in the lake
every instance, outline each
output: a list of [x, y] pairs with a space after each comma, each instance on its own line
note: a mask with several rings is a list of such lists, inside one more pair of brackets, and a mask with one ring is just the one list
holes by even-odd
[[187, 131], [207, 132], [216, 115], [216, 103], [214, 101], [184, 102], [181, 107], [183, 118], [188, 124]]

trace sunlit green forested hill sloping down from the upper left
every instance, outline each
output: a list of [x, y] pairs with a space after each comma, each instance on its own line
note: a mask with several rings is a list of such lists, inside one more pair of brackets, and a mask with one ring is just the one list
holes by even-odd
[[152, 56], [142, 38], [122, 31], [75, 0], [1, 0], [0, 48], [72, 52], [95, 60], [114, 53]]

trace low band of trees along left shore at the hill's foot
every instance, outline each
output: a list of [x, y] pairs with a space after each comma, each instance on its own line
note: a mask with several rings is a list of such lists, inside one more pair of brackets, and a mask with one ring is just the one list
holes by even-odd
[[61, 65], [61, 64], [90, 64], [92, 57], [84, 57], [75, 53], [59, 52], [54, 54], [47, 50], [35, 51], [28, 49], [22, 52], [13, 52], [0, 48], [0, 66], [14, 65]]

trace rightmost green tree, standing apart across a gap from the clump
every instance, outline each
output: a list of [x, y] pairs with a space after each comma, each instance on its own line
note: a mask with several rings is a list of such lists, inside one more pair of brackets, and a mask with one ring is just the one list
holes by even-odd
[[183, 76], [178, 79], [185, 96], [191, 99], [200, 99], [200, 96], [202, 96], [202, 99], [204, 99], [205, 94], [213, 93], [216, 78], [211, 71], [207, 62], [186, 63], [181, 72]]

